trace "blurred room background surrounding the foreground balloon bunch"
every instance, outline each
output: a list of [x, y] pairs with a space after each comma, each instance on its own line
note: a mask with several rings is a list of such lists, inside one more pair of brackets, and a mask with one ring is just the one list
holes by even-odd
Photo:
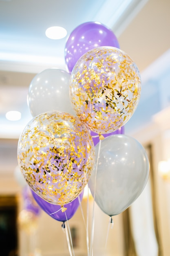
[[[109, 234], [109, 217], [95, 206], [94, 255], [170, 255], [169, 11], [169, 0], [0, 0], [0, 255], [69, 255], [62, 222], [44, 211], [23, 212], [26, 185], [18, 171], [17, 145], [33, 118], [27, 104], [32, 79], [47, 68], [66, 70], [66, 38], [89, 21], [112, 29], [120, 49], [139, 68], [141, 99], [124, 128], [150, 159], [146, 188], [128, 211], [113, 218]], [[64, 27], [66, 36], [47, 38], [51, 26]], [[20, 119], [7, 119], [9, 111], [20, 112]], [[86, 218], [88, 201], [91, 220], [93, 200], [85, 195], [82, 209], [69, 220], [77, 256], [87, 255], [82, 210]]]

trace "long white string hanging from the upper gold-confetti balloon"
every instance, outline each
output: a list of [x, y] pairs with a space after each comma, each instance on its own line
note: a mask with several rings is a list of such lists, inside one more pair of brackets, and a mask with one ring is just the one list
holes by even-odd
[[95, 194], [96, 194], [96, 179], [97, 179], [97, 167], [99, 162], [99, 155], [101, 149], [101, 139], [99, 140], [99, 149], [97, 154], [97, 162], [96, 162], [96, 170], [95, 170], [95, 184], [94, 184], [94, 196], [93, 196], [93, 215], [92, 215], [92, 229], [91, 229], [91, 248], [90, 248], [90, 256], [93, 256], [93, 240], [94, 240], [94, 226], [95, 226]]

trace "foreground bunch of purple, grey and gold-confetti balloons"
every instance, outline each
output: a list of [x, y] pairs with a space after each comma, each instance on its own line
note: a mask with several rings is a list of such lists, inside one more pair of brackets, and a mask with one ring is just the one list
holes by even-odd
[[[48, 69], [31, 81], [33, 119], [20, 135], [18, 164], [48, 214], [56, 210], [52, 205], [64, 213], [73, 203], [76, 210], [89, 184], [99, 207], [113, 216], [139, 196], [149, 175], [143, 146], [124, 135], [139, 103], [140, 73], [99, 22], [73, 30], [65, 62], [67, 72]], [[75, 211], [69, 213], [68, 219]]]

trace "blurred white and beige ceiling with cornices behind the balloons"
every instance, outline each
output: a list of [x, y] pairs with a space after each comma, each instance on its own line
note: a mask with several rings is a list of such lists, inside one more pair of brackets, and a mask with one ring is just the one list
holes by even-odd
[[[169, 10], [169, 0], [0, 0], [0, 138], [18, 139], [32, 118], [26, 101], [29, 84], [46, 68], [65, 70], [66, 39], [84, 22], [98, 21], [112, 29], [143, 81], [156, 77], [165, 65], [153, 63], [170, 48]], [[64, 27], [67, 36], [47, 38], [50, 26]], [[9, 110], [21, 111], [22, 119], [8, 121]]]

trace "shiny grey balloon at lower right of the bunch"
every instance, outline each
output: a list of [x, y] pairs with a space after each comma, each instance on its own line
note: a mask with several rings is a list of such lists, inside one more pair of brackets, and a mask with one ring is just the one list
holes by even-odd
[[[98, 152], [99, 144], [95, 149]], [[149, 176], [146, 150], [127, 135], [112, 135], [101, 141], [94, 191], [95, 168], [88, 186], [93, 197], [95, 193], [95, 202], [108, 216], [128, 208], [143, 191]]]

